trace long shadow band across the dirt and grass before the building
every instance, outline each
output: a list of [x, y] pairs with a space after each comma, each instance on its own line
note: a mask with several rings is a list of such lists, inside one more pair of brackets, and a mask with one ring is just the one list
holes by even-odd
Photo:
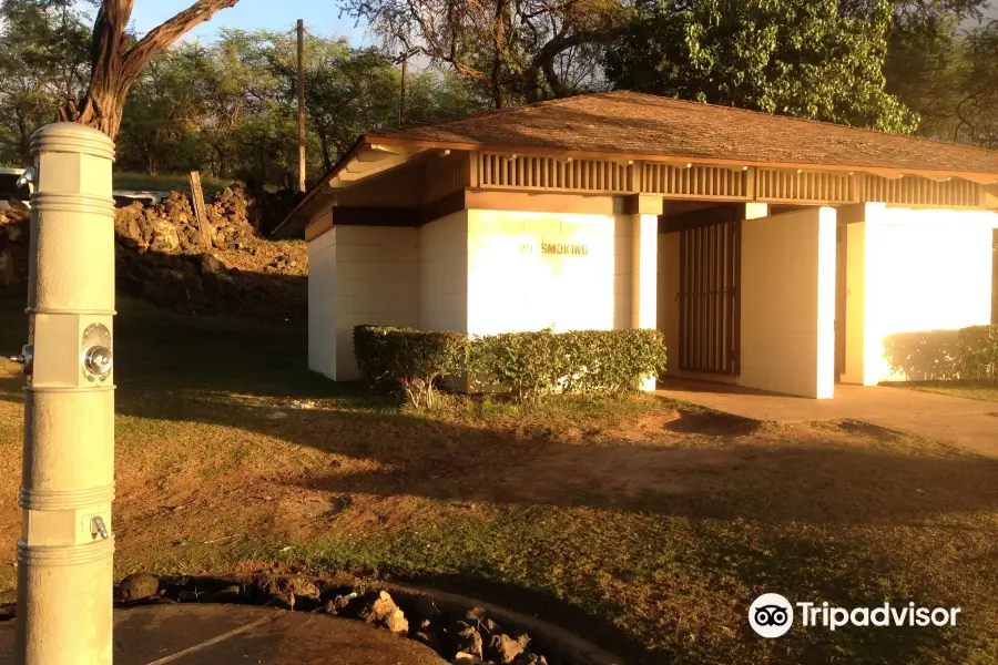
[[[663, 400], [646, 440], [564, 441], [543, 431], [435, 420], [378, 408], [357, 388], [337, 387], [337, 408], [258, 406], [225, 396], [119, 399], [120, 413], [225, 424], [357, 462], [288, 480], [342, 494], [414, 495], [495, 504], [591, 507], [694, 519], [809, 524], [915, 524], [940, 513], [998, 508], [998, 461], [970, 454], [905, 454], [889, 440], [868, 446], [793, 439], [764, 446], [744, 419], [692, 413], [700, 434], [669, 434], [682, 407]], [[276, 391], [249, 391], [274, 395]], [[282, 398], [315, 397], [288, 390]], [[324, 392], [328, 396], [329, 392]], [[286, 417], [273, 419], [275, 409]], [[720, 424], [719, 424], [720, 422]], [[702, 424], [696, 424], [702, 423]], [[733, 423], [734, 429], [725, 429]], [[846, 423], [846, 428], [848, 423]], [[720, 429], [719, 429], [720, 428]], [[843, 429], [845, 431], [845, 428]], [[719, 433], [721, 432], [721, 433]], [[834, 437], [829, 433], [829, 439]]]

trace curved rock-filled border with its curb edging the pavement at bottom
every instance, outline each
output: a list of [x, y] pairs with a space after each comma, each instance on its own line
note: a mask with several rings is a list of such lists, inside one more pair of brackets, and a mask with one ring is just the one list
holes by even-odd
[[[115, 608], [164, 603], [257, 605], [363, 621], [420, 642], [455, 665], [625, 665], [550, 622], [426, 586], [273, 573], [136, 573], [115, 586]], [[0, 607], [0, 621], [16, 616], [14, 604]]]

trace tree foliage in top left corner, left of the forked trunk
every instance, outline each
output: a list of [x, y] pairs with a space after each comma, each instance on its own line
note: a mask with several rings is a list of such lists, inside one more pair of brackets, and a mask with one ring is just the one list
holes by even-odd
[[90, 76], [89, 17], [73, 0], [0, 4], [0, 161], [27, 163], [31, 134]]

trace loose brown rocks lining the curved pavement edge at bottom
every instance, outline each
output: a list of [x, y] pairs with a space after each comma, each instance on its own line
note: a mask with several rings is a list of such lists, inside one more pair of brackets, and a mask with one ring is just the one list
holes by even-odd
[[500, 625], [481, 607], [441, 608], [427, 595], [395, 598], [383, 589], [327, 585], [301, 575], [261, 575], [234, 584], [203, 577], [156, 579], [140, 573], [123, 580], [116, 596], [125, 603], [237, 603], [324, 612], [421, 642], [455, 665], [561, 663], [552, 654], [546, 657], [534, 653], [530, 635], [515, 626]]

